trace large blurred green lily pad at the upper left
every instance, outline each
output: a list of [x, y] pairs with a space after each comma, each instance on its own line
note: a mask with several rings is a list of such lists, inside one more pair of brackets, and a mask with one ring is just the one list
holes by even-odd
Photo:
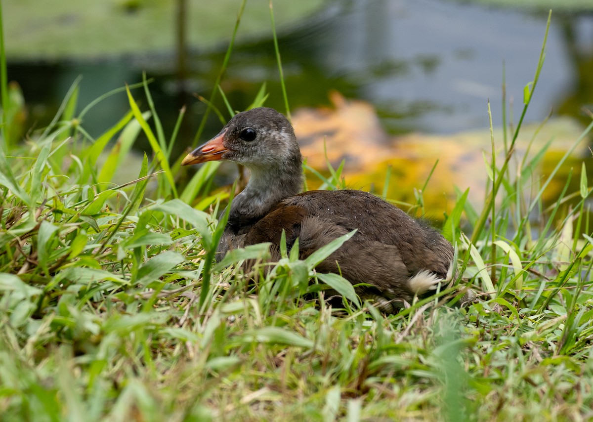
[[[5, 48], [9, 60], [97, 59], [172, 52], [177, 5], [172, 0], [5, 0]], [[228, 43], [241, 0], [187, 0], [191, 48]], [[323, 0], [276, 1], [276, 27], [310, 16]], [[269, 0], [248, 1], [238, 39], [272, 33]]]

